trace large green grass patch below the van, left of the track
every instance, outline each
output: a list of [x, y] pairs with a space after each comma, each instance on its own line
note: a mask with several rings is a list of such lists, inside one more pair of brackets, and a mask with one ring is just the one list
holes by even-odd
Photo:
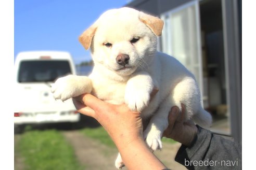
[[26, 170], [83, 169], [71, 145], [56, 130], [30, 130], [22, 134], [17, 151], [24, 158]]

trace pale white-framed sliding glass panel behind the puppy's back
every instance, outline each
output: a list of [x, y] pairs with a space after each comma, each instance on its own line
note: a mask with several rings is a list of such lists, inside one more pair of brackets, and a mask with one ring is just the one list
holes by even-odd
[[162, 51], [172, 55], [185, 65], [195, 75], [202, 91], [202, 61], [198, 13], [198, 4], [193, 2], [164, 13], [161, 16], [164, 21]]

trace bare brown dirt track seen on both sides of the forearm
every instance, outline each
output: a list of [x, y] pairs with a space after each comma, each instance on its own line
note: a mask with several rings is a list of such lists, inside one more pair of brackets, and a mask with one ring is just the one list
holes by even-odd
[[[63, 135], [74, 147], [75, 154], [81, 164], [85, 165], [87, 169], [116, 169], [114, 161], [116, 160], [118, 150], [116, 148], [106, 147], [97, 141], [85, 137], [78, 131], [66, 131]], [[174, 161], [174, 157], [180, 144], [163, 143], [163, 149], [156, 151], [157, 157], [171, 169], [186, 169], [181, 164]], [[123, 168], [126, 169], [126, 168]]]

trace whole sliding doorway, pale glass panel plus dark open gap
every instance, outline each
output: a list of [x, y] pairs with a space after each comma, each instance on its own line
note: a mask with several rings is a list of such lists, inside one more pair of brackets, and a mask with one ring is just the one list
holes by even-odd
[[174, 56], [199, 84], [204, 109], [213, 118], [213, 132], [230, 135], [222, 1], [193, 1], [161, 15], [162, 51]]

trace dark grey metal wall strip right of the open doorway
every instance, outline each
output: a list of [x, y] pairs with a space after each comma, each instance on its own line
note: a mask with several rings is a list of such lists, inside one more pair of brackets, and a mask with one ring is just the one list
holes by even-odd
[[229, 111], [232, 136], [241, 143], [241, 44], [239, 36], [239, 11], [237, 0], [222, 0], [225, 63], [229, 85]]

